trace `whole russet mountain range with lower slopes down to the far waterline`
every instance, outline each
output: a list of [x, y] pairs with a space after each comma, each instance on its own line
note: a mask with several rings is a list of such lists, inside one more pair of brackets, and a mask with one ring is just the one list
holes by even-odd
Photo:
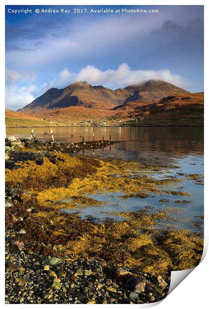
[[162, 80], [149, 80], [116, 90], [75, 82], [64, 89], [51, 88], [17, 112], [6, 110], [8, 127], [72, 126], [92, 121], [100, 125], [202, 126], [204, 93]]

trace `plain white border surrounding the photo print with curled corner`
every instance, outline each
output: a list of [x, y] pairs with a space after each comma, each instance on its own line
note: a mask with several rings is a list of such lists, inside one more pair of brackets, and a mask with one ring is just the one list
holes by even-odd
[[[3, 209], [4, 209], [4, 175], [3, 175], [3, 169], [4, 169], [4, 5], [44, 5], [44, 4], [51, 4], [51, 5], [205, 5], [205, 55], [209, 54], [208, 50], [208, 38], [209, 38], [209, 5], [208, 1], [204, 0], [175, 0], [175, 1], [168, 1], [165, 0], [152, 0], [152, 1], [136, 1], [136, 0], [1, 0], [0, 1], [0, 94], [1, 94], [1, 102], [0, 102], [0, 124], [1, 124], [1, 130], [0, 130], [0, 143], [1, 143], [1, 152], [0, 152], [0, 170], [2, 171], [0, 173], [0, 205], [1, 205], [1, 215], [0, 215], [0, 226], [1, 226], [1, 241], [0, 241], [0, 254], [1, 256], [1, 268], [0, 268], [0, 303], [3, 306], [7, 306], [4, 304], [4, 242], [3, 242], [3, 235], [4, 235], [4, 215], [3, 215]], [[208, 69], [209, 67], [209, 61], [208, 58], [205, 56], [205, 115], [207, 121], [205, 122], [205, 157], [208, 158], [208, 144], [207, 144], [207, 133], [209, 133], [209, 125], [208, 125], [208, 104], [209, 104], [209, 93], [208, 93]], [[209, 240], [209, 225], [208, 225], [208, 218], [209, 218], [209, 208], [208, 205], [208, 170], [209, 170], [209, 163], [208, 160], [205, 160], [205, 176], [206, 176], [206, 182], [205, 182], [205, 246], [204, 246], [204, 256], [207, 251], [208, 247], [208, 240]], [[208, 283], [209, 279], [207, 276], [208, 267], [209, 266], [209, 254], [206, 256], [206, 258], [203, 260], [203, 262], [190, 274], [188, 278], [186, 278], [175, 290], [173, 293], [171, 293], [164, 301], [158, 305], [158, 308], [165, 308], [165, 309], [176, 309], [177, 306], [180, 306], [180, 308], [207, 308], [208, 307]], [[174, 273], [174, 272], [173, 272]], [[159, 302], [158, 302], [159, 303]], [[158, 303], [155, 303], [156, 305]], [[153, 306], [154, 304], [150, 304]], [[142, 307], [151, 307], [150, 305], [128, 305], [128, 308], [130, 306], [140, 306]], [[12, 305], [10, 305], [12, 306]], [[20, 305], [15, 305], [20, 306]], [[25, 305], [30, 306], [30, 305]], [[32, 305], [32, 306], [39, 306], [39, 305]], [[46, 306], [46, 305], [42, 305]], [[69, 306], [69, 305], [51, 305], [51, 306]], [[71, 305], [71, 307], [74, 306], [80, 306], [84, 307], [86, 305]], [[93, 306], [93, 305], [90, 305]], [[99, 308], [101, 305], [94, 305], [94, 308]], [[126, 305], [103, 305], [103, 306], [120, 306], [123, 308], [126, 308]], [[57, 308], [56, 307], [56, 308]]]

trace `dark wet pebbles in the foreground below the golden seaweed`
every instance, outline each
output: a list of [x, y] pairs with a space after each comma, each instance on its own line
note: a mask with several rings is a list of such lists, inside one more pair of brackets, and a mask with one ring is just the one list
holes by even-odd
[[44, 257], [14, 249], [17, 239], [16, 230], [6, 232], [6, 304], [143, 304], [168, 293], [170, 277], [164, 280], [102, 260]]

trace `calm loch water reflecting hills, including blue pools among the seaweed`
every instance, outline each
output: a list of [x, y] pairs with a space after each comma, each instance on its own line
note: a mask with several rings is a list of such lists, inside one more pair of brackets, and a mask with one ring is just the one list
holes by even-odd
[[[111, 134], [112, 140], [121, 141], [119, 144], [111, 145], [104, 149], [81, 151], [81, 155], [92, 155], [98, 157], [115, 157], [124, 160], [134, 160], [146, 163], [149, 160], [151, 164], [169, 165], [169, 173], [166, 176], [175, 176], [178, 172], [186, 174], [204, 173], [204, 130], [203, 128], [52, 128], [54, 138], [60, 142], [80, 142], [82, 135], [86, 141], [109, 140]], [[39, 140], [50, 140], [50, 128], [35, 128], [36, 138]], [[7, 128], [7, 136], [29, 137], [30, 128]], [[45, 135], [44, 133], [48, 134]], [[174, 168], [174, 166], [178, 166]], [[156, 177], [165, 177], [163, 174], [154, 175]], [[185, 179], [184, 176], [179, 178]], [[129, 198], [121, 199], [122, 192], [90, 195], [104, 202], [100, 207], [83, 207], [68, 210], [69, 212], [79, 213], [82, 218], [89, 216], [95, 217], [99, 221], [106, 218], [121, 220], [116, 214], [119, 211], [134, 211], [153, 207], [154, 210], [167, 209], [174, 207], [179, 212], [171, 214], [169, 222], [161, 222], [162, 227], [174, 228], [194, 228], [194, 222], [202, 221], [198, 216], [204, 214], [204, 190], [203, 185], [196, 181], [187, 179], [182, 183], [175, 183], [168, 187], [168, 190], [189, 192], [190, 196], [175, 195], [156, 195], [146, 199]], [[162, 204], [161, 198], [168, 198], [169, 203]], [[189, 204], [176, 204], [175, 200], [189, 200]], [[177, 220], [176, 220], [177, 219]]]

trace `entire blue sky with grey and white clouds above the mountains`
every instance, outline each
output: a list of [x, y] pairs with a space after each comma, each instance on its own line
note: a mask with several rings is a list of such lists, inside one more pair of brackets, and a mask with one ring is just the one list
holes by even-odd
[[[91, 12], [106, 8], [113, 13]], [[122, 13], [125, 8], [158, 13]], [[12, 110], [76, 81], [117, 89], [160, 79], [204, 91], [203, 5], [6, 5], [5, 29], [6, 108]]]

